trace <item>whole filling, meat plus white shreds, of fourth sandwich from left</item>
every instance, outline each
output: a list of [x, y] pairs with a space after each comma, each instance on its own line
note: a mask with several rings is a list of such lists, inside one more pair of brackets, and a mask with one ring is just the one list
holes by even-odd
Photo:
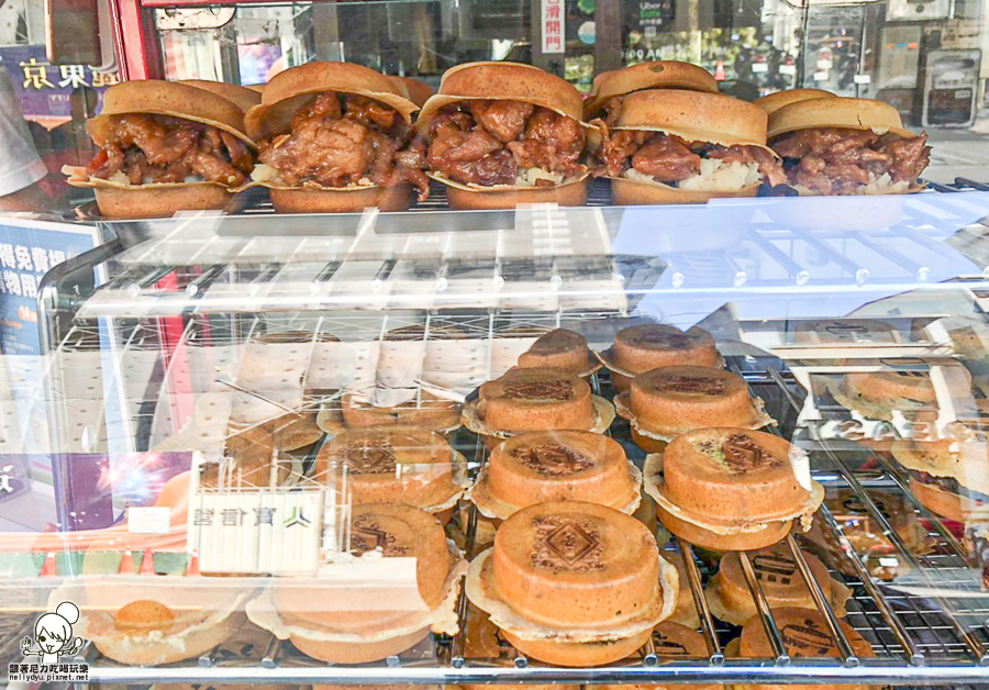
[[[601, 177], [652, 180], [684, 189], [741, 189], [760, 178], [773, 187], [787, 182], [779, 162], [765, 148], [688, 142], [662, 132], [608, 132], [597, 158], [594, 174]], [[727, 175], [730, 170], [737, 174]]]

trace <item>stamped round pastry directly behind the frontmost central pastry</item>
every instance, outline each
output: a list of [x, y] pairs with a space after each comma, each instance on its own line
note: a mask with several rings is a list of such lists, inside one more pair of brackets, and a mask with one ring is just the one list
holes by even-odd
[[494, 520], [547, 501], [587, 501], [631, 514], [638, 507], [640, 487], [638, 470], [608, 436], [527, 432], [496, 446], [470, 500]]

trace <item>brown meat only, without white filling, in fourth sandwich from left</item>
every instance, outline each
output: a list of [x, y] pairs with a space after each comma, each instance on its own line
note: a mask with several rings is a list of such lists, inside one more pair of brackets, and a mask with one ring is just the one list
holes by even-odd
[[726, 164], [755, 163], [768, 185], [775, 187], [787, 182], [787, 176], [776, 157], [758, 146], [688, 142], [679, 136], [657, 132], [607, 132], [597, 157], [594, 174], [602, 177], [620, 177], [632, 168], [658, 182], [676, 185], [698, 175], [701, 160], [709, 158]]

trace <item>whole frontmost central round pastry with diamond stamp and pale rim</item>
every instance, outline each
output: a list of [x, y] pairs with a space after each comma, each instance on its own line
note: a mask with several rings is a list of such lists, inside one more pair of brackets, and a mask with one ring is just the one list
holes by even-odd
[[676, 605], [676, 570], [620, 511], [565, 501], [504, 521], [470, 565], [467, 597], [523, 654], [600, 666], [635, 653]]

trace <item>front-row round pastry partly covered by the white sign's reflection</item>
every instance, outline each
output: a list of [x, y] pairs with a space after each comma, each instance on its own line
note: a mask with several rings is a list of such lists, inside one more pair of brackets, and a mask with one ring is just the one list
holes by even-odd
[[453, 608], [464, 566], [449, 553], [434, 516], [410, 505], [354, 505], [347, 536], [355, 556], [376, 552], [374, 560], [414, 558], [421, 602], [395, 583], [389, 568], [371, 569], [369, 563], [367, 571], [390, 587], [278, 578], [248, 603], [251, 620], [279, 639], [291, 639], [303, 654], [333, 664], [384, 659], [415, 646], [431, 630], [456, 632]]

